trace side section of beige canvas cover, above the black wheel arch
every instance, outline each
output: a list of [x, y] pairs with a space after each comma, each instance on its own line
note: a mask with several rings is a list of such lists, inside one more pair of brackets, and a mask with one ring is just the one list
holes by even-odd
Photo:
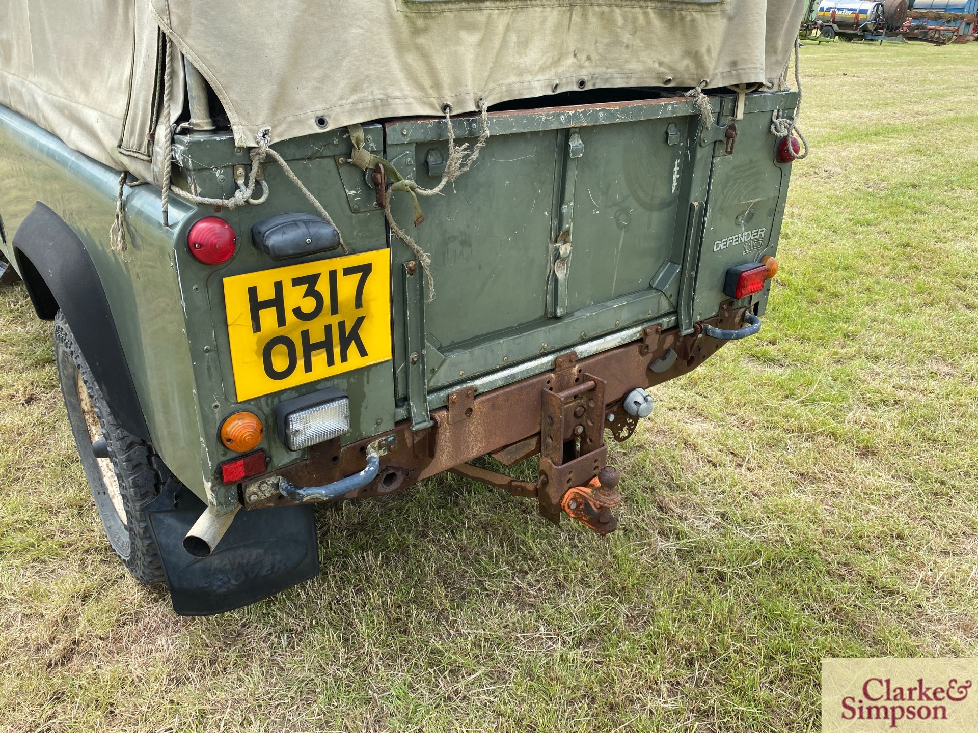
[[0, 104], [73, 150], [156, 180], [151, 137], [184, 104], [174, 63], [170, 114], [160, 118], [159, 39], [147, 0], [0, 0]]

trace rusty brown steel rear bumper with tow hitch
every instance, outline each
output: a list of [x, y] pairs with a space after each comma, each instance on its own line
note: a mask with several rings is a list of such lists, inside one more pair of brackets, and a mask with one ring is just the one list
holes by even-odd
[[[613, 529], [607, 509], [617, 503], [617, 476], [598, 480], [607, 451], [604, 431], [618, 442], [628, 439], [639, 420], [623, 409], [629, 392], [681, 376], [723, 346], [724, 339], [707, 333], [741, 324], [744, 309], [731, 305], [724, 304], [719, 315], [696, 323], [688, 335], [654, 325], [645, 328], [640, 339], [580, 361], [572, 351], [560, 354], [551, 370], [484, 394], [475, 394], [473, 387], [460, 389], [449, 395], [446, 407], [431, 412], [433, 425], [417, 432], [410, 420], [404, 420], [388, 433], [348, 446], [340, 447], [338, 439], [319, 444], [306, 460], [287, 466], [279, 476], [245, 487], [244, 508], [296, 503], [278, 490], [280, 483], [315, 487], [358, 474], [365, 455], [380, 442], [384, 450], [376, 478], [342, 498], [389, 494], [452, 470], [515, 496], [536, 497], [541, 513], [552, 521], [568, 513], [603, 534], [601, 527]], [[512, 465], [538, 453], [536, 482], [468, 463], [488, 454]], [[567, 499], [571, 489], [576, 490], [574, 498]]]

